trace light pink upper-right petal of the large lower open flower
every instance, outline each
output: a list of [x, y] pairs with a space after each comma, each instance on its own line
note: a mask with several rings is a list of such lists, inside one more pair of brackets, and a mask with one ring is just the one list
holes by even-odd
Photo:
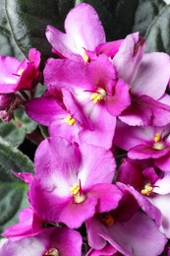
[[111, 183], [115, 174], [116, 163], [110, 151], [93, 145], [82, 144], [82, 165], [79, 178], [86, 190], [97, 183]]

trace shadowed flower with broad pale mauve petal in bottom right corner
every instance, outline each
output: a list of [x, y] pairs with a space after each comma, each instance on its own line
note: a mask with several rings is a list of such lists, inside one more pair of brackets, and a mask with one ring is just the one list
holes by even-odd
[[167, 239], [157, 227], [161, 223], [159, 210], [133, 187], [118, 186], [124, 192], [118, 208], [86, 221], [89, 245], [101, 250], [108, 243], [126, 256], [147, 255], [148, 251], [151, 256], [161, 254]]

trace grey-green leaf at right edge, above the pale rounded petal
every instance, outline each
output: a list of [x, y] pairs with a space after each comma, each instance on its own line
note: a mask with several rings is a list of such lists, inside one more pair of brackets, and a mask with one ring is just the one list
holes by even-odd
[[146, 33], [146, 51], [170, 54], [170, 5], [165, 6]]

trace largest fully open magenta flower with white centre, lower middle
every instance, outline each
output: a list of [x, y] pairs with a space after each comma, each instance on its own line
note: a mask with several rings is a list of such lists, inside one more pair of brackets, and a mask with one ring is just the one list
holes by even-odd
[[53, 137], [40, 144], [34, 164], [29, 201], [44, 222], [77, 228], [95, 213], [117, 207], [122, 197], [111, 184], [115, 160], [102, 148]]

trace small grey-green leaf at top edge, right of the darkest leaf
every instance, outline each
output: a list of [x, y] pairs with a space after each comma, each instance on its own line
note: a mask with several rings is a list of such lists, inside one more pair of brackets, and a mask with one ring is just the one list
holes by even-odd
[[144, 37], [152, 21], [165, 6], [162, 0], [139, 0], [133, 31], [141, 32]]

